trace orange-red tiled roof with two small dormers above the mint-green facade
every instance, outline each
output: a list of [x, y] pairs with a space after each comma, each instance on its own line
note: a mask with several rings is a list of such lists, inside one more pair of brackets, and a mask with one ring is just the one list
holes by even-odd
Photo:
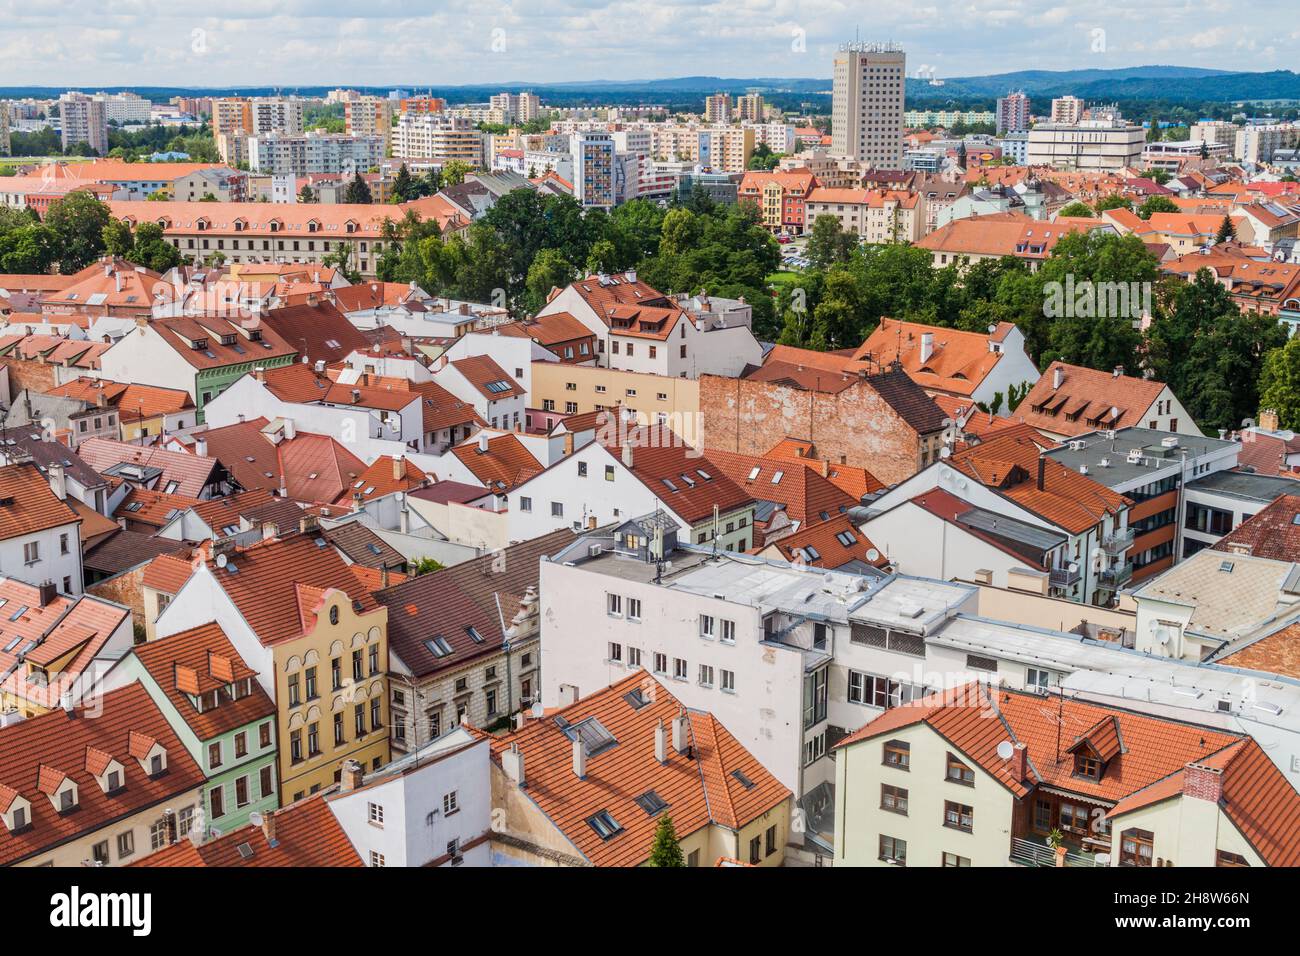
[[224, 700], [214, 708], [209, 701], [203, 710], [191, 702], [191, 696], [211, 695], [228, 684], [256, 676], [216, 622], [138, 644], [130, 653], [135, 654], [200, 741], [276, 713], [274, 701], [256, 680], [251, 682], [252, 692], [238, 700]]

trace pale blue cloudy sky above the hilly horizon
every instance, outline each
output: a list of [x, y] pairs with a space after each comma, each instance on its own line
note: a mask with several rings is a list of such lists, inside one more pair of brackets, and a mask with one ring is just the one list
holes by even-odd
[[0, 0], [0, 87], [829, 77], [854, 36], [937, 77], [1300, 65], [1295, 0]]

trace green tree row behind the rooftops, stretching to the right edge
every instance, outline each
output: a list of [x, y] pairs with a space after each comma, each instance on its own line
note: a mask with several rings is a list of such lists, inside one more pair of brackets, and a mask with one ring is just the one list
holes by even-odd
[[[1062, 360], [1147, 369], [1170, 382], [1206, 429], [1236, 428], [1254, 416], [1261, 390], [1266, 405], [1284, 405], [1290, 375], [1300, 384], [1300, 346], [1282, 350], [1286, 333], [1274, 316], [1242, 312], [1208, 271], [1193, 282], [1164, 277], [1136, 237], [1075, 233], [1037, 271], [1005, 256], [963, 272], [936, 268], [930, 252], [910, 246], [842, 243], [831, 228], [837, 224], [827, 221], [814, 224], [809, 242], [809, 258], [820, 268], [779, 293], [785, 345], [853, 347], [884, 316], [967, 332], [1009, 321], [1040, 368]], [[1115, 291], [1109, 302], [1098, 293], [1108, 289]], [[1113, 302], [1127, 308], [1114, 313]], [[1300, 398], [1288, 407], [1300, 427]]]

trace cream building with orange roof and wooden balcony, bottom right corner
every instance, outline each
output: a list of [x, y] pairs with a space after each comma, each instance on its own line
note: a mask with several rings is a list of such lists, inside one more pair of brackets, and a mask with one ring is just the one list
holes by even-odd
[[836, 753], [837, 866], [1297, 858], [1300, 793], [1240, 734], [968, 684], [888, 710]]

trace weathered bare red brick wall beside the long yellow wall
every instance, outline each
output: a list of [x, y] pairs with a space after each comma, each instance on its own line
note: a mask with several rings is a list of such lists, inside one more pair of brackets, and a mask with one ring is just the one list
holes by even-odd
[[818, 458], [866, 468], [893, 484], [916, 473], [920, 438], [866, 382], [838, 394], [748, 378], [701, 376], [705, 449], [760, 455], [781, 438], [805, 438]]

